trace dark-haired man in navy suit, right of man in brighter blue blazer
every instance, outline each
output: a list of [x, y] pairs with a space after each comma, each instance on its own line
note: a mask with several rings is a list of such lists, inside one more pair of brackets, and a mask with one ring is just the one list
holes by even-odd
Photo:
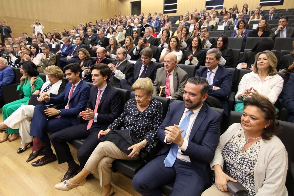
[[79, 60], [77, 51], [80, 48], [87, 49], [87, 47], [83, 44], [82, 38], [80, 36], [76, 36], [76, 44], [72, 47], [72, 50], [69, 52], [68, 56], [66, 58], [60, 59], [61, 67], [64, 67], [69, 63], [77, 62]]

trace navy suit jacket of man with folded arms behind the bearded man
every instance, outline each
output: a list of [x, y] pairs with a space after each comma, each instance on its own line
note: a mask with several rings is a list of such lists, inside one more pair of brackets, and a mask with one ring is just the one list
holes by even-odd
[[[207, 68], [203, 67], [196, 71], [195, 76], [200, 76], [206, 78], [207, 76]], [[213, 86], [217, 86], [219, 90], [212, 90]], [[231, 92], [232, 88], [232, 72], [223, 66], [218, 66], [218, 70], [213, 78], [212, 85], [209, 85], [208, 95], [213, 96], [220, 100], [223, 105], [224, 113], [229, 115], [228, 108], [228, 95]]]

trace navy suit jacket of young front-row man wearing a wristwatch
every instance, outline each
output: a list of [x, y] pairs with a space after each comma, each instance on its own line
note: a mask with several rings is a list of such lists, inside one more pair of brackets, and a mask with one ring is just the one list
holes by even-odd
[[69, 109], [64, 109], [69, 97], [69, 92], [71, 90], [72, 83], [67, 83], [64, 91], [58, 97], [51, 97], [48, 104], [61, 104], [60, 115], [61, 117], [71, 118], [73, 125], [77, 125], [76, 116], [84, 110], [89, 97], [90, 97], [90, 87], [83, 80], [78, 84], [74, 93], [69, 100]]

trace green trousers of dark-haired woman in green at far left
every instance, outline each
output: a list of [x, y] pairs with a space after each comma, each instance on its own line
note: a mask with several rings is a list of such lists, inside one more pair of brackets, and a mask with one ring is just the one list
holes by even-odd
[[[17, 110], [21, 105], [27, 105], [27, 101], [25, 99], [20, 99], [5, 104], [2, 108], [3, 121], [8, 118], [12, 113], [14, 113], [14, 111]], [[19, 129], [11, 129], [8, 127], [7, 131], [5, 132], [8, 132], [8, 134], [19, 133]]]

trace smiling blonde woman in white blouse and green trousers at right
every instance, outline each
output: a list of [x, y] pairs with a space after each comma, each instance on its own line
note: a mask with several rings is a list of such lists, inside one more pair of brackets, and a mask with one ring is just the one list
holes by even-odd
[[245, 74], [238, 86], [234, 106], [243, 112], [243, 100], [250, 96], [264, 97], [275, 103], [283, 90], [284, 80], [277, 74], [277, 57], [269, 50], [256, 54], [253, 71]]

